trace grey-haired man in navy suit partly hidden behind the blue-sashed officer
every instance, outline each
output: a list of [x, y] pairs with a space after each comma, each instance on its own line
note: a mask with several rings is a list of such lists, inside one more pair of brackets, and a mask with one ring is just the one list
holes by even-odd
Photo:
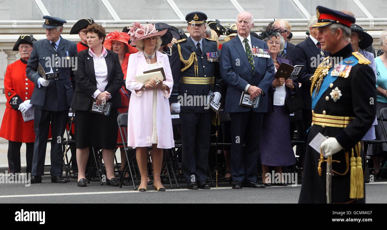
[[[314, 15], [308, 21], [309, 37], [303, 42], [296, 45], [296, 58], [293, 65], [304, 65], [298, 82], [301, 82], [301, 95], [304, 101], [304, 109], [302, 110], [302, 123], [301, 127], [297, 128], [300, 141], [307, 140], [306, 131], [312, 123], [312, 98], [310, 97], [310, 77], [316, 71], [317, 66], [323, 58], [329, 55], [328, 51], [322, 50], [320, 42], [316, 39], [317, 28], [312, 28], [312, 25], [317, 23], [317, 17]], [[301, 163], [303, 163], [303, 157], [305, 155], [305, 146], [297, 146], [297, 154], [300, 155]]]

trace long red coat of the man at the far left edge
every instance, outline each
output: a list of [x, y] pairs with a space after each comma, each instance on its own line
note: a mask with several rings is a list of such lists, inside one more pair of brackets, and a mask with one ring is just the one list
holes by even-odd
[[[27, 62], [20, 59], [7, 66], [4, 76], [6, 108], [0, 136], [10, 141], [34, 142], [34, 120], [24, 122], [19, 104], [31, 98], [34, 83], [26, 77]], [[15, 102], [15, 103], [13, 103]]]

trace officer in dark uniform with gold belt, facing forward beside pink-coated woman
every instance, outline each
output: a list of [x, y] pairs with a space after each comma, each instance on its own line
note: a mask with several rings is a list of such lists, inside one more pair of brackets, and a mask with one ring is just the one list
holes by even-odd
[[221, 98], [217, 43], [203, 39], [206, 19], [202, 12], [187, 14], [190, 37], [173, 44], [170, 60], [174, 82], [170, 102], [175, 112], [181, 110], [182, 164], [188, 189], [210, 188], [206, 180], [212, 113], [203, 101], [210, 90], [215, 101]]

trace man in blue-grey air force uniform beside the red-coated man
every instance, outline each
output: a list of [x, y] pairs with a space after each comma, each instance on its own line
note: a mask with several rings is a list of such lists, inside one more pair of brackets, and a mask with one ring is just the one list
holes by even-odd
[[[47, 39], [34, 43], [31, 58], [28, 60], [26, 75], [34, 82], [35, 89], [31, 97], [34, 111], [34, 156], [31, 173], [31, 184], [41, 183], [44, 174], [45, 156], [48, 131], [51, 123], [51, 182], [66, 183], [62, 178], [63, 152], [62, 136], [68, 121], [68, 109], [73, 96], [70, 77], [74, 77], [73, 70], [77, 55], [77, 44], [60, 36], [65, 20], [43, 16]], [[67, 62], [67, 63], [65, 63]], [[55, 80], [45, 80], [37, 73], [38, 63], [45, 72], [58, 72]], [[72, 66], [73, 65], [73, 66]], [[48, 66], [48, 67], [47, 67]]]

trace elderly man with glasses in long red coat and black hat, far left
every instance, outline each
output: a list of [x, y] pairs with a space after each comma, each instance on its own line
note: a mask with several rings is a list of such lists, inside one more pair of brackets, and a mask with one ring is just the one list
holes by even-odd
[[[34, 83], [26, 78], [27, 61], [36, 41], [31, 34], [21, 35], [13, 51], [19, 51], [20, 59], [7, 66], [4, 76], [4, 90], [7, 98], [0, 136], [8, 140], [9, 173], [21, 172], [20, 148], [26, 143], [26, 172], [31, 172], [34, 153], [33, 105], [29, 98], [34, 91]], [[30, 118], [30, 119], [26, 119]], [[26, 121], [24, 121], [26, 119]]]

